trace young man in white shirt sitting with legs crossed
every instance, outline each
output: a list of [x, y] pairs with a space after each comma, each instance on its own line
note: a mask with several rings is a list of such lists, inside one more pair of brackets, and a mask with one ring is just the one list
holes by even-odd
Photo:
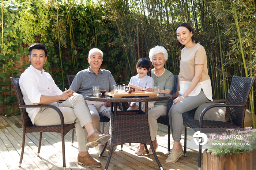
[[[72, 90], [62, 92], [54, 83], [49, 73], [44, 72], [47, 59], [45, 46], [33, 44], [29, 47], [29, 61], [31, 65], [20, 76], [19, 84], [26, 104], [52, 104], [58, 107], [64, 116], [65, 124], [75, 123], [76, 136], [79, 145], [78, 163], [88, 167], [100, 167], [88, 153], [89, 148], [97, 144], [106, 143], [109, 134], [95, 131], [90, 110], [82, 95]], [[57, 103], [65, 100], [63, 103]], [[32, 123], [40, 125], [60, 124], [59, 114], [51, 108], [26, 108]]]

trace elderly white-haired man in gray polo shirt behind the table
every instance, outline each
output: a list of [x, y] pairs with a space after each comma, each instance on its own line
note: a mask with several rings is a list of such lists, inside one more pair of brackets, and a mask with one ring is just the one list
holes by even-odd
[[[88, 69], [84, 69], [76, 74], [70, 90], [74, 90], [78, 94], [87, 95], [93, 93], [93, 86], [99, 86], [99, 90], [106, 90], [106, 92], [113, 92], [116, 84], [112, 74], [109, 70], [101, 69], [100, 66], [103, 61], [103, 53], [99, 49], [91, 49], [89, 51], [88, 62], [90, 64]], [[99, 116], [110, 117], [110, 103], [88, 101], [86, 103], [90, 109], [91, 117], [93, 119], [94, 128], [101, 132], [99, 124]], [[109, 126], [109, 123], [108, 123]], [[106, 128], [105, 132], [108, 132]], [[104, 133], [105, 133], [104, 132]], [[101, 153], [103, 145], [98, 145], [95, 149]], [[109, 147], [107, 147], [109, 150]], [[114, 147], [113, 151], [116, 150]], [[108, 156], [108, 152], [104, 151], [102, 156]]]

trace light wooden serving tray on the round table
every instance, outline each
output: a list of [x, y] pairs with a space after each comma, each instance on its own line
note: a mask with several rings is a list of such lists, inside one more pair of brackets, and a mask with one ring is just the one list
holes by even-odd
[[153, 92], [132, 92], [132, 93], [125, 93], [125, 94], [114, 94], [114, 92], [107, 92], [105, 93], [106, 96], [112, 98], [126, 98], [126, 97], [136, 97], [136, 96], [145, 96], [145, 97], [156, 97], [157, 93]]

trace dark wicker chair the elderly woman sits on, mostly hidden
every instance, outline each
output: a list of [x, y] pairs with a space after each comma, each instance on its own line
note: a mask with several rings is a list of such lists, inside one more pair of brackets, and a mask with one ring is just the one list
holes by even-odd
[[[177, 83], [178, 83], [178, 76], [174, 76], [174, 86], [173, 86], [173, 90], [170, 94], [174, 94], [176, 93], [177, 90]], [[171, 100], [169, 100], [168, 104], [167, 104], [167, 109], [166, 109], [166, 116], [160, 116], [157, 119], [157, 123], [161, 123], [163, 125], [166, 125], [168, 127], [168, 152], [170, 151], [170, 134], [171, 134], [171, 130], [170, 130], [170, 123], [169, 123], [169, 116], [168, 113], [170, 111], [170, 108], [173, 105], [173, 100], [176, 97], [173, 97]]]

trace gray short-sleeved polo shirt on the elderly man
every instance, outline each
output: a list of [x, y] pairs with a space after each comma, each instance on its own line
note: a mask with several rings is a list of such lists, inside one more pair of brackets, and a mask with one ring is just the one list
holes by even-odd
[[83, 96], [93, 94], [93, 86], [99, 86], [99, 90], [110, 92], [114, 89], [116, 81], [109, 70], [99, 68], [96, 75], [90, 67], [78, 72], [69, 89]]

